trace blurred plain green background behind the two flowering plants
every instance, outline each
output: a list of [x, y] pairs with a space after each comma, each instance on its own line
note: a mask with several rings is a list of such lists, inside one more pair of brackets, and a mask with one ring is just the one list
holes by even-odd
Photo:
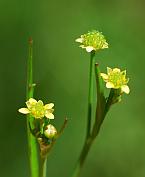
[[127, 69], [124, 95], [104, 121], [81, 177], [145, 176], [145, 1], [0, 0], [0, 177], [28, 177], [24, 106], [27, 40], [34, 40], [35, 98], [55, 103], [56, 127], [69, 118], [49, 160], [48, 176], [70, 177], [86, 127], [88, 54], [74, 40], [102, 31], [109, 49], [101, 70]]

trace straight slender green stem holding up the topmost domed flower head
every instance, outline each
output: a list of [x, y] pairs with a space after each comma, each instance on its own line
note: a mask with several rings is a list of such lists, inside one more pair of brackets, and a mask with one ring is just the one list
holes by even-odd
[[94, 83], [94, 59], [95, 53], [91, 52], [90, 56], [90, 75], [89, 75], [89, 94], [88, 94], [88, 118], [87, 118], [87, 134], [86, 139], [89, 138], [91, 132], [91, 119], [92, 119], [92, 105], [93, 105], [93, 83]]

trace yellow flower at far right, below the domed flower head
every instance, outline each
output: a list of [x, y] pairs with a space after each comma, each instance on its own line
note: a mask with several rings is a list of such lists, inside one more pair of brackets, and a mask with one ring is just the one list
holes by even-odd
[[101, 73], [101, 76], [106, 82], [107, 88], [121, 89], [121, 92], [129, 94], [130, 89], [127, 86], [129, 79], [126, 78], [126, 70], [120, 71], [118, 68], [107, 67], [107, 74]]

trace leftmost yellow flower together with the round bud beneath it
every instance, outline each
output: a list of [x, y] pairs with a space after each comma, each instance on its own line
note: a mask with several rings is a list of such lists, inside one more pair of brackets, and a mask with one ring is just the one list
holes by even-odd
[[[39, 139], [46, 139], [46, 141], [54, 138], [57, 135], [57, 130], [49, 123], [50, 119], [54, 119], [54, 104], [44, 105], [41, 100], [36, 101], [34, 98], [30, 98], [26, 101], [26, 106], [27, 108], [20, 108], [18, 111], [22, 114], [30, 114], [39, 121], [39, 127], [35, 128], [37, 132], [36, 135], [33, 133], [34, 136], [38, 136]], [[33, 132], [33, 130], [31, 131]]]

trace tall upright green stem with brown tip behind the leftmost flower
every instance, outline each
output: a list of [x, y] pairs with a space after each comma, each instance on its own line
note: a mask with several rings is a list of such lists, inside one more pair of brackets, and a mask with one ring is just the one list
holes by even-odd
[[[32, 39], [29, 40], [29, 57], [27, 63], [27, 91], [26, 100], [33, 98], [34, 84], [33, 84], [33, 61], [32, 61]], [[33, 128], [34, 118], [31, 115], [27, 115], [27, 136], [28, 136], [28, 152], [29, 152], [29, 165], [30, 165], [30, 176], [39, 177], [39, 164], [38, 164], [38, 154], [37, 154], [37, 142], [36, 138], [32, 135], [29, 128], [29, 123]]]

